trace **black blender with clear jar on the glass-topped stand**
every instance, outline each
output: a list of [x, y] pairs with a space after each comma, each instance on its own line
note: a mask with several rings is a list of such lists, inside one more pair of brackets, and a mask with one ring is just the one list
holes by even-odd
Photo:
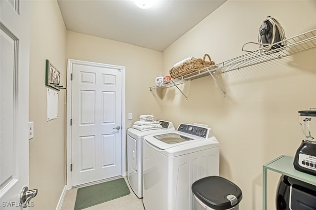
[[298, 111], [305, 138], [296, 151], [293, 164], [298, 171], [316, 175], [316, 110], [312, 109]]

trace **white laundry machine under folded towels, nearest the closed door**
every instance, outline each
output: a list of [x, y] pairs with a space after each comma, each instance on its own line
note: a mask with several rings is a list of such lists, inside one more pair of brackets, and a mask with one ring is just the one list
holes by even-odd
[[160, 122], [162, 129], [139, 131], [127, 129], [127, 180], [138, 198], [143, 197], [143, 139], [147, 135], [175, 131], [171, 122]]

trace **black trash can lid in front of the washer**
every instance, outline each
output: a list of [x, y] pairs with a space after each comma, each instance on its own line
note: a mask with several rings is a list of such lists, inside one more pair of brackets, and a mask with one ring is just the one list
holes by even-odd
[[201, 202], [215, 210], [231, 209], [237, 206], [242, 198], [240, 188], [220, 176], [197, 180], [192, 184], [192, 192]]

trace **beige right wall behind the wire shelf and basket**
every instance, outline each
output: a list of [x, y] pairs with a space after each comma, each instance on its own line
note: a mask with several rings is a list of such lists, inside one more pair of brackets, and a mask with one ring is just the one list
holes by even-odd
[[[262, 21], [271, 15], [286, 37], [316, 28], [316, 1], [229, 0], [162, 53], [163, 74], [184, 58], [208, 53], [220, 63], [244, 54], [257, 41]], [[251, 50], [257, 45], [249, 45]], [[219, 76], [227, 96], [209, 77], [162, 94], [161, 118], [208, 124], [220, 142], [220, 175], [243, 192], [240, 209], [262, 209], [262, 165], [279, 155], [294, 156], [303, 135], [298, 110], [316, 106], [316, 49]], [[270, 175], [270, 174], [269, 174]], [[275, 209], [278, 174], [269, 176], [269, 206]]]

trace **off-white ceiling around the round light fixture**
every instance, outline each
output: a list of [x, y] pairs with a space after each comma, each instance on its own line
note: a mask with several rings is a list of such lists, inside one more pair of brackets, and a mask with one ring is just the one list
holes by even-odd
[[226, 0], [57, 0], [67, 30], [162, 52]]

